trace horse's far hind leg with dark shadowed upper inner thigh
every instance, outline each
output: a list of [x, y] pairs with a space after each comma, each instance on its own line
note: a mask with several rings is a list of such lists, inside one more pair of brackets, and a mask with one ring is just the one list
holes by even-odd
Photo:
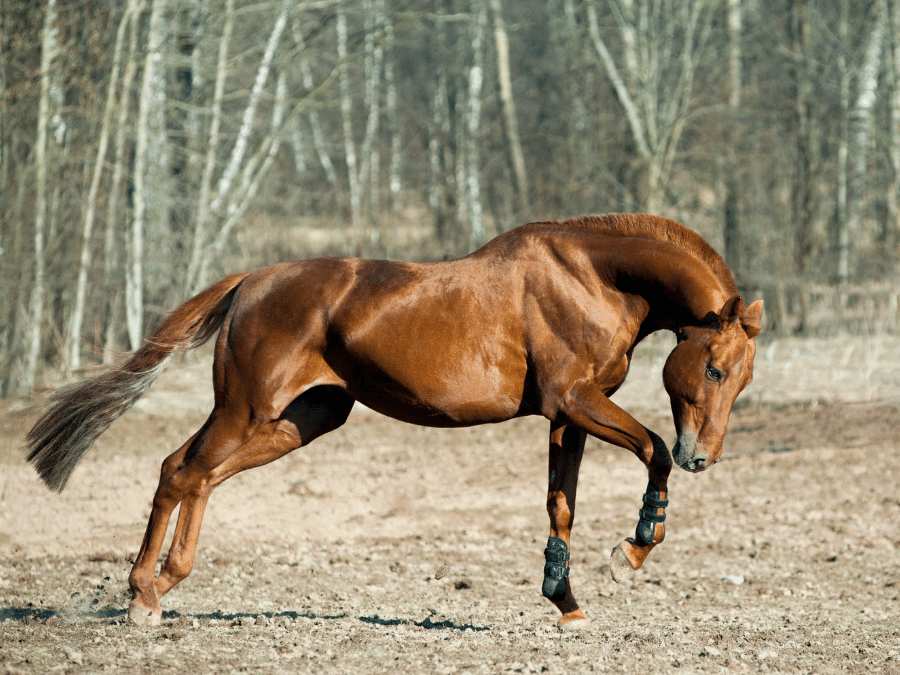
[[[218, 485], [236, 473], [273, 462], [338, 428], [346, 421], [353, 403], [350, 396], [336, 387], [310, 389], [295, 399], [281, 417], [263, 426], [224, 461], [196, 480], [182, 497], [172, 544], [159, 577], [152, 580], [152, 589], [147, 589], [151, 592], [140, 594], [132, 586], [135, 597], [129, 608], [131, 620], [135, 623], [158, 623], [162, 616], [160, 598], [190, 574], [206, 504]], [[156, 551], [158, 555], [159, 549]], [[155, 561], [155, 557], [153, 559]], [[147, 597], [154, 603], [149, 607]]]

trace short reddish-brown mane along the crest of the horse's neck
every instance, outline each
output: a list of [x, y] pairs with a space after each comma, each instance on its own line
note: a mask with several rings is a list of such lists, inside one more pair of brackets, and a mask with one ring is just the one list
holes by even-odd
[[622, 237], [642, 237], [665, 241], [704, 263], [728, 288], [738, 294], [734, 275], [716, 250], [699, 234], [679, 222], [645, 213], [609, 213], [603, 216], [581, 216], [558, 223], [567, 229], [600, 231]]

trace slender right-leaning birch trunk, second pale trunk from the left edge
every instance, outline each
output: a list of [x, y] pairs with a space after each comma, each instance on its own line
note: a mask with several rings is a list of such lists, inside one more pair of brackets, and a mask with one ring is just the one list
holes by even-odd
[[[136, 0], [130, 0], [116, 31], [116, 41], [113, 47], [113, 65], [109, 76], [109, 88], [106, 93], [106, 106], [103, 110], [103, 121], [100, 124], [100, 140], [97, 147], [97, 158], [94, 161], [94, 171], [91, 176], [91, 186], [88, 190], [87, 208], [84, 214], [84, 225], [81, 237], [81, 257], [78, 266], [78, 281], [75, 289], [75, 306], [72, 310], [72, 319], [69, 327], [67, 343], [69, 353], [68, 369], [81, 367], [81, 327], [84, 321], [85, 301], [87, 298], [88, 268], [91, 262], [91, 237], [94, 231], [94, 216], [97, 207], [97, 195], [100, 191], [100, 177], [106, 162], [106, 153], [109, 148], [109, 137], [112, 128], [113, 108], [116, 101], [116, 86], [119, 81], [119, 71], [122, 68], [122, 49], [125, 42], [125, 34], [129, 24], [133, 21], [137, 8]], [[127, 95], [127, 89], [123, 89], [123, 97]]]

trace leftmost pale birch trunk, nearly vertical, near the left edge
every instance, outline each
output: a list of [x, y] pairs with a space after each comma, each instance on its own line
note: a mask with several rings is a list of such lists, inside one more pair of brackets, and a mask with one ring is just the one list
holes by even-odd
[[35, 217], [34, 217], [34, 281], [29, 305], [28, 341], [22, 387], [28, 391], [37, 377], [38, 359], [41, 353], [41, 330], [44, 322], [44, 235], [47, 224], [47, 131], [50, 127], [50, 84], [53, 60], [59, 53], [59, 29], [56, 0], [47, 0], [44, 10], [44, 26], [41, 39], [41, 93], [38, 108], [37, 139], [34, 149], [35, 169]]

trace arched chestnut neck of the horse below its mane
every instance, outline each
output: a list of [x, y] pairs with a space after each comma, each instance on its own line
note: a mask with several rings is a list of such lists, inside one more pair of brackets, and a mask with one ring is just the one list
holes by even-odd
[[668, 241], [616, 237], [597, 247], [595, 266], [621, 291], [648, 303], [646, 332], [706, 323], [737, 294], [734, 282], [722, 279], [703, 260]]

